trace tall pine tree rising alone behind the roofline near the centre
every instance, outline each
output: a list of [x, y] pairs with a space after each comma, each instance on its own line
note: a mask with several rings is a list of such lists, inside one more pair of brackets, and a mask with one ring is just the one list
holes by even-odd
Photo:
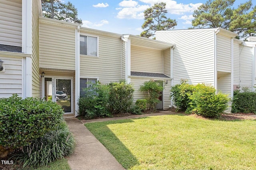
[[165, 9], [166, 3], [160, 2], [144, 11], [145, 22], [142, 29], [146, 29], [140, 33], [141, 37], [152, 37], [155, 31], [173, 29], [177, 22], [166, 17], [167, 10]]

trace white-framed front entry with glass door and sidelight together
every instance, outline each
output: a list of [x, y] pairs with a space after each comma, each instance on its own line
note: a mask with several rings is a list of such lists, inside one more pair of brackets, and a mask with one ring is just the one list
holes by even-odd
[[72, 78], [44, 78], [44, 96], [60, 105], [65, 113], [72, 112]]

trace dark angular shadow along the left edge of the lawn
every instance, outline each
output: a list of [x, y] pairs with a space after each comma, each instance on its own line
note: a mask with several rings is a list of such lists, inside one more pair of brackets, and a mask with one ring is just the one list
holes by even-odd
[[[145, 119], [142, 117], [139, 119]], [[116, 158], [116, 160], [126, 169], [132, 168], [139, 164], [137, 158], [130, 152], [130, 150], [116, 137], [116, 135], [108, 128], [107, 125], [118, 123], [134, 122], [131, 119], [122, 119], [113, 123], [113, 121], [95, 122], [84, 124], [90, 132], [109, 150], [109, 152]], [[132, 129], [131, 129], [132, 130]]]

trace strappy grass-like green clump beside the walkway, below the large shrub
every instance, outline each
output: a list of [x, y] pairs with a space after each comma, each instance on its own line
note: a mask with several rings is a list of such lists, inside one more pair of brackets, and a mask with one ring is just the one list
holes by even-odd
[[25, 166], [43, 166], [62, 159], [73, 153], [75, 141], [65, 121], [57, 129], [46, 133], [43, 137], [32, 141], [16, 155], [16, 161]]

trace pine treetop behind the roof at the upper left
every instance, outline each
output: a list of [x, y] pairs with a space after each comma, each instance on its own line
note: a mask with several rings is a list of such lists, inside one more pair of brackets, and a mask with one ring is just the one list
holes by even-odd
[[77, 9], [70, 2], [64, 4], [60, 0], [42, 0], [42, 11], [47, 18], [82, 24], [82, 20], [78, 19]]

